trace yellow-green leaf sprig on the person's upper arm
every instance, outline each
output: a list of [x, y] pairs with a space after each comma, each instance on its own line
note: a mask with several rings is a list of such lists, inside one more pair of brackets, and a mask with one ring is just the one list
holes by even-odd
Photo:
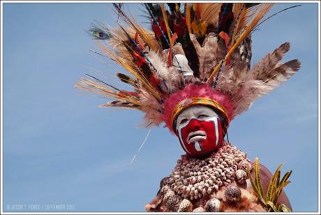
[[281, 169], [282, 164], [276, 168], [276, 171], [274, 175], [272, 176], [269, 187], [267, 189], [266, 195], [264, 195], [264, 191], [262, 188], [261, 180], [260, 180], [260, 166], [259, 166], [259, 159], [256, 157], [254, 161], [254, 179], [251, 175], [250, 168], [247, 168], [248, 172], [248, 178], [251, 181], [251, 184], [253, 186], [253, 189], [255, 193], [257, 193], [257, 197], [260, 199], [260, 202], [264, 207], [267, 208], [269, 212], [291, 212], [291, 209], [287, 207], [284, 204], [276, 205], [276, 202], [278, 202], [278, 197], [281, 194], [282, 189], [290, 184], [290, 181], [288, 180], [292, 170], [290, 172], [285, 173], [281, 178]]

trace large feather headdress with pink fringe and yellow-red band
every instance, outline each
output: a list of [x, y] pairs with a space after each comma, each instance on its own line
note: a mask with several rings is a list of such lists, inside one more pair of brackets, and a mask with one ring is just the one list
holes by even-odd
[[114, 29], [93, 25], [90, 32], [103, 56], [128, 70], [129, 74], [118, 73], [117, 78], [133, 90], [120, 90], [89, 75], [75, 86], [113, 99], [102, 107], [140, 110], [146, 126], [165, 122], [171, 131], [173, 116], [181, 109], [210, 101], [225, 118], [226, 129], [255, 99], [300, 68], [297, 60], [281, 63], [290, 49], [288, 42], [251, 68], [251, 32], [272, 5], [144, 3], [151, 23], [147, 30], [114, 3], [124, 22]]

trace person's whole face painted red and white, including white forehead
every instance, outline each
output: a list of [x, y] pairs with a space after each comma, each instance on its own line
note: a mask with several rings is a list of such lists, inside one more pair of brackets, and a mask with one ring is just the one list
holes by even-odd
[[195, 105], [179, 113], [175, 129], [181, 147], [193, 157], [210, 154], [223, 144], [221, 120], [208, 106]]

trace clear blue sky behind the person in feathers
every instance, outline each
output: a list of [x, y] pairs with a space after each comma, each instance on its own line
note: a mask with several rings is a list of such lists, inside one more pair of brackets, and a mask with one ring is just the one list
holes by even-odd
[[[276, 4], [270, 14], [294, 5]], [[125, 5], [142, 14], [138, 4]], [[139, 127], [142, 113], [100, 109], [76, 90], [85, 73], [105, 81], [124, 69], [101, 62], [86, 33], [114, 26], [110, 3], [3, 4], [3, 209], [72, 205], [81, 212], [141, 212], [184, 151], [163, 127]], [[140, 19], [144, 20], [144, 19]], [[318, 4], [303, 3], [253, 33], [252, 63], [283, 42], [301, 70], [230, 125], [233, 145], [274, 171], [293, 170], [285, 191], [296, 212], [318, 211]], [[40, 208], [41, 209], [41, 208]], [[31, 209], [32, 210], [32, 209]]]

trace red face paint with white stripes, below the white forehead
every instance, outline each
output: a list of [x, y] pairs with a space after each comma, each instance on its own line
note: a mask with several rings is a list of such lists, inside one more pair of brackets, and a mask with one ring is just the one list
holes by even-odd
[[177, 126], [177, 136], [184, 151], [193, 157], [202, 157], [223, 145], [221, 120], [211, 117], [192, 118], [188, 124]]

